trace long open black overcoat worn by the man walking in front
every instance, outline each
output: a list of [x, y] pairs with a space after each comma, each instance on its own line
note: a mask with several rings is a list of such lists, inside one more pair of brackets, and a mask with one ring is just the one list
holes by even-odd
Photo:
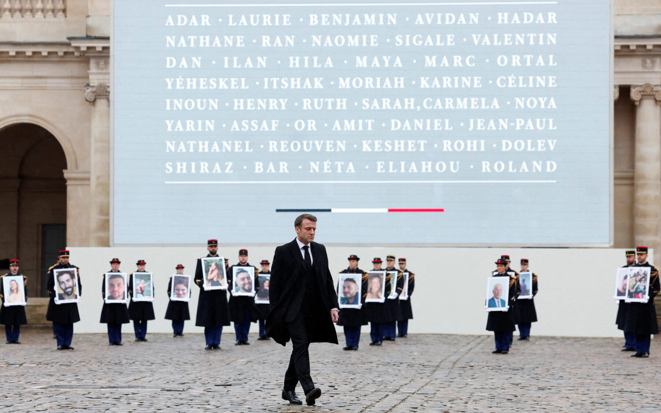
[[[319, 305], [327, 310], [328, 317], [320, 317], [315, 324], [307, 326], [309, 342], [329, 342], [337, 344], [335, 326], [331, 320], [331, 309], [339, 308], [337, 294], [333, 287], [329, 258], [323, 244], [310, 243], [312, 250], [313, 274], [318, 282]], [[295, 319], [301, 303], [307, 278], [305, 277], [303, 255], [294, 239], [291, 243], [276, 247], [271, 268], [269, 299], [271, 311], [266, 317], [266, 334], [283, 346], [290, 340], [287, 323]]]

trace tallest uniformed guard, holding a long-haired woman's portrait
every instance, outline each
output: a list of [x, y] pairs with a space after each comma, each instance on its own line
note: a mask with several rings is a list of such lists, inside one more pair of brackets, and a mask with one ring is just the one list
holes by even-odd
[[[218, 240], [210, 239], [207, 241], [207, 250], [209, 251], [208, 257], [217, 257]], [[225, 258], [225, 268], [227, 268], [227, 258]], [[224, 289], [204, 289], [202, 258], [198, 258], [195, 268], [195, 283], [200, 287], [195, 325], [204, 327], [206, 350], [218, 350], [220, 348], [220, 336], [223, 334], [223, 326], [229, 326], [227, 291]]]

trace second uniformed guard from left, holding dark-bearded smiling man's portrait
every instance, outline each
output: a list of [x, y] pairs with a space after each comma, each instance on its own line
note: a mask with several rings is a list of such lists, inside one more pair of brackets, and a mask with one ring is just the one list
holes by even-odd
[[55, 286], [55, 278], [53, 277], [53, 270], [59, 268], [76, 268], [78, 273], [78, 293], [83, 295], [83, 283], [81, 283], [81, 270], [75, 265], [69, 264], [69, 251], [61, 250], [58, 255], [58, 264], [48, 268], [46, 278], [46, 291], [50, 297], [48, 301], [48, 311], [46, 311], [46, 320], [53, 322], [53, 331], [58, 339], [58, 350], [73, 350], [71, 347], [71, 339], [73, 338], [73, 323], [81, 320], [78, 314], [77, 303], [55, 303], [55, 297], [58, 289]]

